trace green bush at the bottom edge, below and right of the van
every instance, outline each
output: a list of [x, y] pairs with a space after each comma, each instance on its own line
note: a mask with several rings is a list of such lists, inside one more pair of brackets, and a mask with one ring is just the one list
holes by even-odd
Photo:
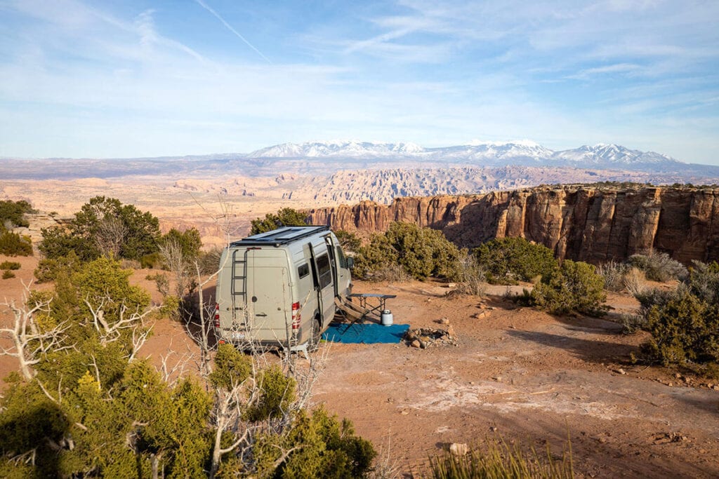
[[[281, 451], [293, 448], [274, 470]], [[253, 452], [260, 475], [296, 479], [365, 478], [377, 455], [370, 442], [357, 437], [351, 422], [339, 422], [321, 407], [311, 416], [301, 411], [285, 434], [260, 435]]]

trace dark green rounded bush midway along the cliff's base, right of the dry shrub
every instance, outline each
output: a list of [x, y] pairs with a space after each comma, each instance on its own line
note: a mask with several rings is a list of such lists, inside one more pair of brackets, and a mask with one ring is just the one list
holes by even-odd
[[487, 280], [497, 284], [531, 281], [557, 265], [549, 248], [524, 238], [496, 238], [474, 253], [479, 266], [487, 271]]

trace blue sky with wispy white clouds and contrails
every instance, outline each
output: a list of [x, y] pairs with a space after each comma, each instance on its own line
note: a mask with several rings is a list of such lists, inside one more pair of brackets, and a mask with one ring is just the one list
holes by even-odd
[[321, 139], [719, 164], [719, 1], [0, 0], [0, 156]]

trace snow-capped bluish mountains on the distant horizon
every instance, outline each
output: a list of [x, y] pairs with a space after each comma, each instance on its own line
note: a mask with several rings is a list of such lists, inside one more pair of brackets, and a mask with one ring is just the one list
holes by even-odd
[[246, 155], [261, 159], [364, 159], [416, 160], [475, 166], [570, 166], [622, 169], [666, 169], [677, 167], [677, 159], [655, 152], [641, 152], [615, 144], [596, 144], [554, 151], [529, 140], [477, 141], [452, 147], [424, 148], [414, 143], [370, 141], [308, 141], [284, 143]]

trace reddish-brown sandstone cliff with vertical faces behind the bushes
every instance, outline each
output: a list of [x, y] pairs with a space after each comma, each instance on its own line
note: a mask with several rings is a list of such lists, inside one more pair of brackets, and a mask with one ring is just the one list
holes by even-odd
[[313, 224], [385, 231], [407, 221], [444, 231], [459, 246], [520, 236], [559, 258], [599, 264], [654, 248], [685, 264], [719, 259], [719, 189], [536, 187], [482, 195], [403, 197], [390, 205], [311, 210]]

